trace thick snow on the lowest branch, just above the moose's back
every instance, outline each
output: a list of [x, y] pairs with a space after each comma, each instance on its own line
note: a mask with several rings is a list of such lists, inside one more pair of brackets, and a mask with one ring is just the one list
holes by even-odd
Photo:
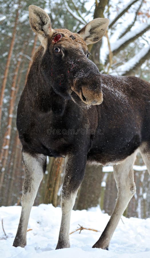
[[[142, 49], [138, 54], [136, 54], [128, 62], [117, 67], [115, 69], [115, 71], [111, 73], [111, 75], [119, 75], [119, 76], [128, 75], [128, 73], [130, 71], [132, 71], [139, 64], [143, 63], [148, 58], [149, 54], [150, 54], [150, 45], [147, 46], [146, 48]], [[142, 60], [142, 62], [141, 62], [141, 60]]]

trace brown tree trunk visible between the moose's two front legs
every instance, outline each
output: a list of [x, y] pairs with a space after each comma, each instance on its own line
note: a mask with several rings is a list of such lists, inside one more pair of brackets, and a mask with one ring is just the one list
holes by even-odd
[[61, 173], [64, 170], [65, 159], [64, 158], [53, 158], [50, 166], [47, 187], [45, 192], [44, 203], [52, 203], [54, 207], [57, 206], [57, 197], [59, 190], [59, 181]]

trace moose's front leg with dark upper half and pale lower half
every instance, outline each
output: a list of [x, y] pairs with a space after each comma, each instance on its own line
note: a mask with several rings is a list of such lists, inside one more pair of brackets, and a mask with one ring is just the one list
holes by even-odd
[[63, 182], [62, 194], [61, 194], [61, 226], [59, 231], [59, 239], [56, 249], [69, 248], [69, 228], [71, 210], [75, 204], [75, 198], [77, 191], [84, 177], [86, 158], [81, 153], [75, 155], [69, 155], [66, 169], [65, 178]]

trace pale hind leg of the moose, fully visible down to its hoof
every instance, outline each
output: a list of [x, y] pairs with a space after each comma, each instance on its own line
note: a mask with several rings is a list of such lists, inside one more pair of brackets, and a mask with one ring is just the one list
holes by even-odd
[[133, 153], [121, 164], [114, 165], [114, 177], [118, 190], [115, 208], [105, 230], [101, 234], [99, 240], [93, 245], [93, 248], [96, 247], [108, 250], [113, 232], [115, 231], [124, 210], [127, 208], [129, 201], [136, 192], [133, 176], [133, 164], [135, 158], [136, 153]]

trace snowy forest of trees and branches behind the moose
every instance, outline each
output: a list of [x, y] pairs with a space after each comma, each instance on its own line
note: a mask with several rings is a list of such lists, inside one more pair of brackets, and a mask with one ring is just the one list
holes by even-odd
[[[131, 75], [150, 82], [149, 0], [0, 0], [0, 205], [21, 205], [24, 168], [16, 128], [17, 104], [40, 45], [29, 25], [28, 6], [37, 5], [49, 14], [53, 28], [77, 32], [93, 18], [110, 20], [106, 35], [89, 45], [91, 60], [101, 73]], [[117, 114], [116, 114], [117, 115]], [[65, 160], [48, 158], [47, 170], [35, 205], [60, 205]], [[86, 167], [74, 209], [99, 205], [111, 214], [117, 197], [113, 167]], [[150, 216], [150, 177], [140, 155], [134, 166], [137, 193], [124, 215]]]

